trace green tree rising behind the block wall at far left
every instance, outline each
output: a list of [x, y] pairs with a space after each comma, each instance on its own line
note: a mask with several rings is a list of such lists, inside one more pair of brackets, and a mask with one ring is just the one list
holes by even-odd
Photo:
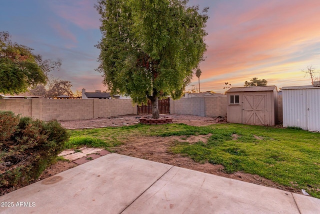
[[45, 81], [32, 49], [12, 43], [8, 32], [0, 32], [0, 93], [19, 94]]

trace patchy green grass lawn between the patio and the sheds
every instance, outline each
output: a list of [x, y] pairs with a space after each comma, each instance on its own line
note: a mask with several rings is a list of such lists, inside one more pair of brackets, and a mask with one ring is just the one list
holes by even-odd
[[[222, 164], [225, 172], [257, 174], [320, 198], [320, 133], [242, 124], [205, 127], [184, 124], [134, 125], [71, 130], [66, 148], [79, 145], [110, 148], [130, 137], [209, 134], [207, 142], [177, 142], [169, 148], [198, 162]], [[317, 191], [318, 190], [318, 191]]]

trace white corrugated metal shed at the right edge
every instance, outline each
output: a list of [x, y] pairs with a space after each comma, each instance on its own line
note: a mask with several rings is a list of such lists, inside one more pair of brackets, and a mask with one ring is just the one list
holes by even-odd
[[320, 131], [320, 87], [282, 88], [283, 127]]

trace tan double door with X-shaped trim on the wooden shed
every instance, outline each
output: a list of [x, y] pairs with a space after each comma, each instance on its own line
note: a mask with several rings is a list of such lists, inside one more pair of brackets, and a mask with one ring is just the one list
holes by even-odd
[[243, 123], [267, 125], [266, 94], [243, 94]]

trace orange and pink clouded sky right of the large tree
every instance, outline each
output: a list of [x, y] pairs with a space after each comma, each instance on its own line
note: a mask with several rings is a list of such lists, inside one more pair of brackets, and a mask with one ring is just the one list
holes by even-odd
[[320, 68], [320, 1], [241, 1], [239, 8], [232, 3], [211, 8], [201, 91], [221, 92], [226, 81], [243, 86], [253, 77], [269, 85], [309, 84], [300, 70]]

